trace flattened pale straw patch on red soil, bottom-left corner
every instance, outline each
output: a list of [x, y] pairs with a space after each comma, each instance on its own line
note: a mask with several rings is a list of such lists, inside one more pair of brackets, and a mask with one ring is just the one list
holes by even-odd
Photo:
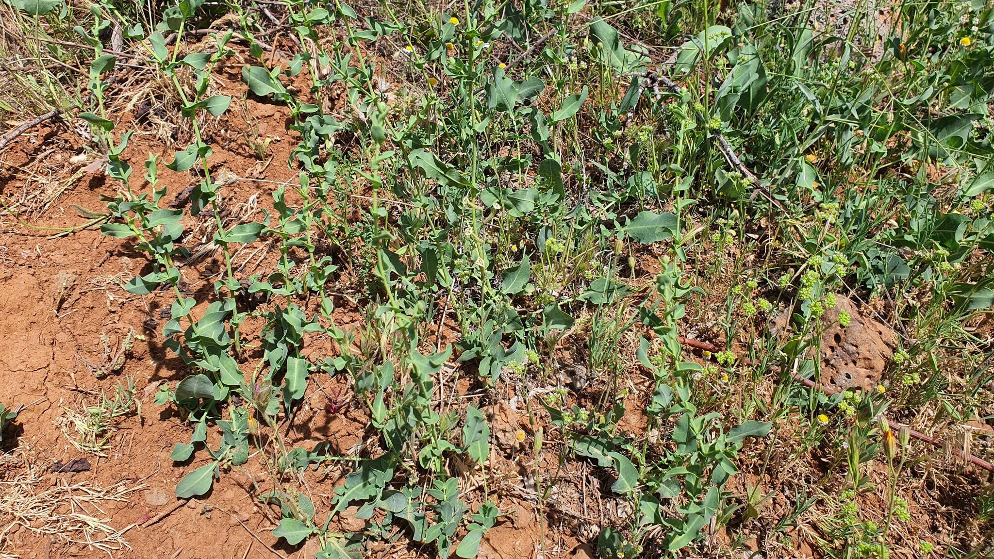
[[124, 481], [107, 487], [87, 482], [70, 485], [56, 478], [55, 484], [47, 487], [46, 473], [51, 465], [26, 446], [0, 455], [0, 558], [19, 557], [12, 536], [21, 529], [107, 555], [130, 549], [124, 534], [135, 524], [111, 526], [101, 504], [127, 501], [147, 485], [128, 486]]

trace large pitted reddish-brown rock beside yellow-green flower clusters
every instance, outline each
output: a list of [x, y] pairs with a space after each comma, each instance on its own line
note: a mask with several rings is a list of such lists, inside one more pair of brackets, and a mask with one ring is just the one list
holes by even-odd
[[[849, 313], [849, 326], [838, 323], [839, 311]], [[898, 336], [885, 324], [860, 315], [856, 304], [838, 296], [836, 307], [825, 313], [832, 325], [821, 339], [821, 383], [839, 389], [873, 389], [880, 384]]]

